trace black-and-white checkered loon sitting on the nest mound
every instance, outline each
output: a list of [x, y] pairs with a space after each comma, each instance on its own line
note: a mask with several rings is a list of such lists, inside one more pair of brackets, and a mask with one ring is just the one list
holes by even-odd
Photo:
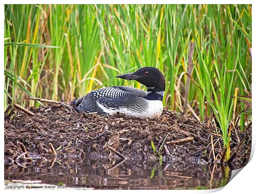
[[140, 119], [154, 120], [163, 112], [165, 78], [154, 67], [140, 68], [133, 73], [116, 76], [136, 80], [147, 86], [147, 91], [131, 86], [111, 86], [90, 91], [80, 99], [72, 101], [79, 112], [97, 112], [98, 115], [124, 113]]

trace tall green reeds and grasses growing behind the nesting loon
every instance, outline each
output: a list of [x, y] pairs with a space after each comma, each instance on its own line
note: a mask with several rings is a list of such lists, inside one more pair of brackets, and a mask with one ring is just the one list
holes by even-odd
[[166, 77], [164, 105], [183, 111], [185, 101], [201, 121], [214, 113], [228, 157], [228, 129], [251, 122], [251, 22], [251, 5], [5, 5], [5, 43], [28, 45], [5, 47], [5, 109], [39, 105], [28, 96], [145, 89], [115, 76], [155, 66]]

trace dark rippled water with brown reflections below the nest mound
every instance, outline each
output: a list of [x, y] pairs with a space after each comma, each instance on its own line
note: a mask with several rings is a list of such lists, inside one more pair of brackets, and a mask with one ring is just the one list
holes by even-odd
[[[209, 189], [225, 185], [228, 167], [199, 164], [136, 163], [84, 159], [80, 162], [37, 161], [5, 164], [5, 180], [41, 180], [42, 183], [84, 186], [119, 186], [119, 189]], [[227, 178], [225, 178], [227, 177]]]

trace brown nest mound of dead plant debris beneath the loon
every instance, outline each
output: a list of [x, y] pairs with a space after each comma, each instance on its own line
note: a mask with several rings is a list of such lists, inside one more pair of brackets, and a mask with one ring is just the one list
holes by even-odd
[[[122, 154], [129, 160], [157, 161], [162, 155], [163, 161], [172, 164], [213, 162], [214, 158], [219, 162], [223, 155], [218, 127], [209, 122], [201, 124], [189, 115], [167, 108], [160, 119], [154, 121], [123, 114], [78, 113], [56, 104], [29, 110], [35, 115], [17, 109], [5, 115], [4, 152], [12, 159], [38, 159], [50, 157], [54, 152], [59, 159], [120, 157]], [[232, 131], [230, 147], [232, 163], [239, 167], [247, 164], [251, 129]]]

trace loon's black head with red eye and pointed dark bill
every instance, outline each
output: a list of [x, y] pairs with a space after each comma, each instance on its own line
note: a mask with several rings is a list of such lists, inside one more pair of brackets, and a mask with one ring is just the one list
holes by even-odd
[[153, 67], [140, 68], [133, 73], [127, 73], [123, 75], [118, 75], [116, 77], [136, 80], [141, 84], [147, 86], [147, 88], [154, 88], [156, 91], [165, 91], [165, 79], [164, 75], [160, 70]]

